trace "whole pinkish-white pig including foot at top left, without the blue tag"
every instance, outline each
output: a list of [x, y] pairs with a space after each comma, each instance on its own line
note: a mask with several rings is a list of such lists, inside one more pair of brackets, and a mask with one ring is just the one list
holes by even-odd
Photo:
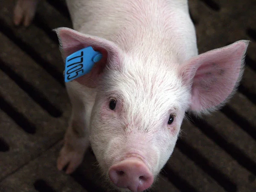
[[[18, 0], [28, 26], [37, 0]], [[249, 41], [198, 55], [187, 0], [67, 0], [73, 29], [55, 29], [65, 60], [93, 47], [90, 71], [67, 82], [72, 114], [57, 167], [72, 173], [89, 145], [113, 188], [152, 186], [171, 156], [185, 113], [218, 110], [241, 80]]]

